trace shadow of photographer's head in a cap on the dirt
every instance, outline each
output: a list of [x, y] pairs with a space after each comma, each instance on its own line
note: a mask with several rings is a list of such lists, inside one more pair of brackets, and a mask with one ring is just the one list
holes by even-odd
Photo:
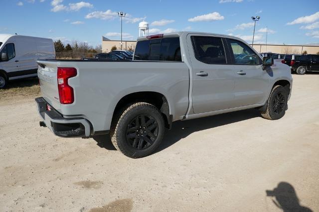
[[287, 182], [280, 182], [274, 190], [266, 190], [267, 197], [274, 197], [273, 203], [284, 212], [312, 212], [301, 206], [294, 187]]

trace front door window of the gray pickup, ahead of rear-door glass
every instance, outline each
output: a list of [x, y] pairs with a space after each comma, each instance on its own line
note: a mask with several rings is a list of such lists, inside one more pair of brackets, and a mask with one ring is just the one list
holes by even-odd
[[228, 42], [233, 52], [234, 64], [240, 64], [240, 65], [260, 65], [261, 64], [260, 58], [246, 44], [237, 40], [232, 40], [232, 39], [228, 39]]

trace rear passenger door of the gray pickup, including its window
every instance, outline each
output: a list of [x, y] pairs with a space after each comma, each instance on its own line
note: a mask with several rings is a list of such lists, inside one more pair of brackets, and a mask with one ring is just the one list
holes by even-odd
[[227, 64], [224, 39], [200, 34], [189, 34], [186, 39], [193, 74], [193, 112], [233, 108], [235, 77], [232, 65]]

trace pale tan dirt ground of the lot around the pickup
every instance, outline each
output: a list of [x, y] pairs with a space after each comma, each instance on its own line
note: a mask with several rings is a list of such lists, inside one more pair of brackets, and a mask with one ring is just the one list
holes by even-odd
[[319, 211], [319, 74], [293, 77], [284, 118], [176, 122], [142, 159], [39, 127], [36, 80], [14, 82], [0, 92], [0, 211]]

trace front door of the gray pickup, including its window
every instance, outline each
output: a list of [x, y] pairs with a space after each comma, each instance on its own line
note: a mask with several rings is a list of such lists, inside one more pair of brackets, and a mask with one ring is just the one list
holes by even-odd
[[235, 107], [263, 103], [268, 95], [271, 69], [262, 69], [262, 60], [245, 43], [227, 39], [235, 74]]

